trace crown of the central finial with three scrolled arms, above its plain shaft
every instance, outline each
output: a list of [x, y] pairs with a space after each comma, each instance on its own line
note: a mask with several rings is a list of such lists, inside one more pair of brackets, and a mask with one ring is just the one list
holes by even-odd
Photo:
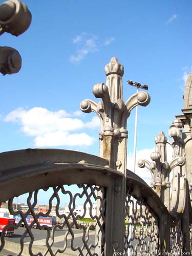
[[99, 139], [105, 135], [127, 138], [126, 121], [135, 106], [146, 106], [150, 103], [150, 96], [146, 92], [139, 92], [123, 102], [122, 76], [123, 66], [113, 57], [105, 66], [106, 84], [97, 83], [93, 87], [93, 94], [102, 101], [83, 100], [80, 109], [85, 113], [95, 112], [101, 121]]

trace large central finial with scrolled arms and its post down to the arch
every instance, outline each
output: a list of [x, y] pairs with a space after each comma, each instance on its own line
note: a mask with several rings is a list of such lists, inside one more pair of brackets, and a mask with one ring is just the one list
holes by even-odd
[[101, 121], [99, 132], [100, 152], [102, 158], [108, 159], [109, 166], [117, 169], [126, 176], [126, 143], [127, 118], [137, 105], [146, 106], [150, 96], [146, 92], [132, 95], [124, 103], [122, 76], [123, 66], [113, 57], [105, 66], [106, 84], [97, 83], [93, 94], [102, 101], [83, 100], [80, 108], [83, 112], [95, 112]]

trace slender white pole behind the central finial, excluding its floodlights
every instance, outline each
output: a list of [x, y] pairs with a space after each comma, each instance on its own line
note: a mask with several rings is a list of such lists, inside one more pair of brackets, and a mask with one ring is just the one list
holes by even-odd
[[[139, 92], [139, 89], [137, 88], [137, 93]], [[135, 110], [135, 134], [134, 134], [134, 147], [133, 147], [133, 162], [134, 162], [134, 173], [136, 168], [136, 153], [137, 153], [137, 121], [138, 121], [138, 106], [136, 106]], [[134, 200], [133, 200], [134, 201]], [[130, 216], [133, 215], [133, 204], [130, 205]], [[130, 218], [129, 223], [132, 222], [132, 218]], [[129, 239], [132, 238], [132, 225], [129, 227]], [[130, 243], [131, 245], [131, 243]], [[133, 255], [131, 248], [128, 249], [128, 256]]]

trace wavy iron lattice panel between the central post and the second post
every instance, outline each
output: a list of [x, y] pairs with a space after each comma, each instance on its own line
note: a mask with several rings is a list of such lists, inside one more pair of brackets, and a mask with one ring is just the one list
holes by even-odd
[[131, 194], [125, 200], [124, 252], [129, 255], [156, 255], [159, 252], [158, 220], [147, 205]]

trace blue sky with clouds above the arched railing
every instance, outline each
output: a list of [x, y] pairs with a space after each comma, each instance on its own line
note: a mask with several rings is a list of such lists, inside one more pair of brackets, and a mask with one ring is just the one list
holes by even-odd
[[[192, 2], [25, 3], [32, 13], [28, 31], [1, 36], [1, 46], [17, 49], [23, 65], [18, 74], [1, 76], [0, 151], [54, 147], [98, 155], [99, 123], [94, 114], [80, 113], [79, 103], [94, 99], [94, 84], [105, 82], [104, 66], [117, 57], [124, 66], [124, 100], [135, 93], [127, 80], [148, 84], [151, 103], [139, 107], [137, 150], [138, 157], [150, 155], [154, 137], [167, 135], [183, 108], [192, 66]], [[133, 111], [127, 122], [130, 168], [134, 124]]]

